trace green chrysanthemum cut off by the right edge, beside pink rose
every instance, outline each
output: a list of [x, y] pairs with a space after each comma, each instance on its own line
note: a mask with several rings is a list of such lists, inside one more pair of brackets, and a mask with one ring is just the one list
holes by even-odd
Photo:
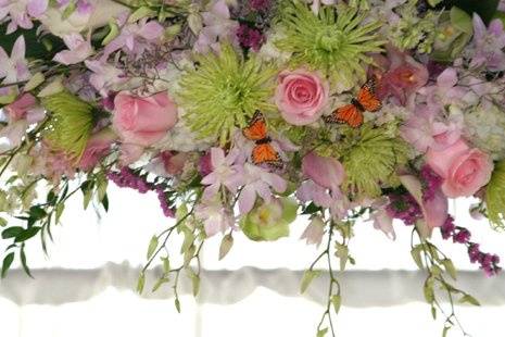
[[488, 219], [495, 228], [505, 229], [505, 161], [494, 167], [485, 189]]

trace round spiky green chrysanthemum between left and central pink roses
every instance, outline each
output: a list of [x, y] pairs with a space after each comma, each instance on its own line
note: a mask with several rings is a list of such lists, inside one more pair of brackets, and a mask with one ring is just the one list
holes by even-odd
[[186, 124], [200, 138], [215, 137], [224, 145], [256, 110], [274, 110], [275, 70], [255, 58], [244, 61], [228, 43], [220, 53], [197, 55], [197, 61], [200, 65], [181, 77], [177, 96]]

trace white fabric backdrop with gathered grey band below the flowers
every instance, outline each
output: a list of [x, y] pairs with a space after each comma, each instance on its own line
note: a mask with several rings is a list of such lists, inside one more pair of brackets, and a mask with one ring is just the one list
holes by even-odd
[[[296, 271], [317, 255], [315, 248], [298, 240], [305, 223], [293, 224], [292, 236], [275, 244], [252, 242], [237, 235], [233, 249], [222, 262], [217, 261], [219, 239], [212, 239], [203, 251], [206, 272], [199, 302], [184, 296], [184, 312], [178, 315], [168, 291], [141, 299], [130, 290], [150, 237], [169, 225], [155, 196], [119, 194], [112, 186], [110, 197], [111, 211], [102, 220], [92, 210], [81, 211], [80, 197], [75, 198], [63, 225], [53, 230], [55, 242], [49, 258], [38, 242], [27, 248], [36, 279], [16, 271], [0, 284], [0, 336], [314, 336], [326, 285], [320, 279], [307, 296], [296, 296], [301, 275]], [[467, 205], [463, 202], [457, 209]], [[482, 249], [505, 258], [505, 236], [466, 212], [456, 213], [458, 223], [472, 230]], [[440, 324], [431, 323], [429, 308], [418, 302], [422, 275], [401, 272], [415, 270], [411, 230], [401, 224], [396, 229], [397, 240], [390, 241], [369, 223], [356, 226], [351, 251], [357, 266], [342, 275], [346, 308], [339, 316], [340, 336], [440, 335]], [[476, 270], [464, 247], [437, 241], [459, 269]], [[488, 305], [460, 309], [468, 330], [472, 336], [503, 337], [505, 329], [496, 319], [505, 313], [505, 278], [487, 279], [476, 272], [463, 273], [459, 280], [462, 288]]]

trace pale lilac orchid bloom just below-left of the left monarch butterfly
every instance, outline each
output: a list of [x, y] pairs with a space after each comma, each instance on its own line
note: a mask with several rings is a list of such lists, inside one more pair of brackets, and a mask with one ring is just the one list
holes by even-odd
[[211, 163], [213, 171], [207, 174], [203, 179], [202, 184], [206, 185], [203, 191], [204, 199], [212, 199], [216, 196], [222, 188], [226, 187], [231, 192], [236, 192], [240, 186], [240, 167], [237, 164], [239, 159], [239, 151], [233, 149], [228, 155], [225, 155], [225, 151], [220, 148], [211, 149]]

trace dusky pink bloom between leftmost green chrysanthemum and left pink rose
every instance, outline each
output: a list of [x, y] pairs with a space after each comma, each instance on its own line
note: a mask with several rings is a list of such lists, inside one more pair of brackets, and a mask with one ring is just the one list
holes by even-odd
[[116, 138], [116, 134], [110, 128], [104, 128], [92, 135], [80, 157], [78, 167], [84, 171], [93, 168], [103, 157], [109, 154], [111, 145]]

